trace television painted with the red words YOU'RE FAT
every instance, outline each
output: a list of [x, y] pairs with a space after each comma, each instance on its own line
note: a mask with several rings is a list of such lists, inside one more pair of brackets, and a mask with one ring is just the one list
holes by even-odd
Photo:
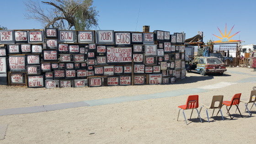
[[0, 30], [0, 43], [14, 43], [14, 40], [13, 30]]

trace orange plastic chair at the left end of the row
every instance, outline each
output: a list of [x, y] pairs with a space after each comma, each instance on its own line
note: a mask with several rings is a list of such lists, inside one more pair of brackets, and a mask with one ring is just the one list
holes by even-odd
[[[190, 119], [191, 119], [193, 110], [194, 110], [194, 109], [197, 110], [197, 108], [198, 108], [198, 95], [188, 96], [188, 97], [187, 97], [187, 103], [186, 103], [186, 105], [181, 105], [181, 106], [178, 106], [178, 107], [179, 107], [180, 109], [179, 109], [179, 113], [178, 113], [178, 118], [177, 118], [177, 120], [179, 119], [179, 115], [180, 115], [181, 109], [183, 109], [183, 110], [182, 110], [183, 116], [184, 116], [184, 119], [185, 119], [186, 124], [187, 124], [187, 119], [186, 119], [186, 117], [185, 117], [184, 110], [192, 109], [192, 112], [191, 112], [191, 115], [190, 115]], [[200, 117], [200, 114], [199, 114], [198, 110], [197, 110], [197, 113], [198, 113], [198, 117], [200, 118], [201, 123], [203, 123], [202, 120], [201, 120], [201, 117]]]

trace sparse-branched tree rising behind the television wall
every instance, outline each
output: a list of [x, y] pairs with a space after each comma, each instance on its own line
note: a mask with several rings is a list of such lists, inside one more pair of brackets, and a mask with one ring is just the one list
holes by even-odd
[[[93, 0], [28, 0], [27, 19], [40, 21], [45, 28], [68, 30], [90, 30], [98, 27], [98, 11], [92, 6]], [[43, 9], [43, 4], [47, 5]]]

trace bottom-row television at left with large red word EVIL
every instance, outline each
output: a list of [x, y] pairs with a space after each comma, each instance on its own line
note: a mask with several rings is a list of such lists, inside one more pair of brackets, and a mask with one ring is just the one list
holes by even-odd
[[44, 87], [43, 75], [27, 76], [27, 87]]

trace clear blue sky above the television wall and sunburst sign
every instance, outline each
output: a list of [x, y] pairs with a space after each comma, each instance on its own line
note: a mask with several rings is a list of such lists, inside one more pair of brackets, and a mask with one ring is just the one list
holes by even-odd
[[[25, 19], [23, 1], [1, 0], [0, 25], [8, 29], [42, 29], [39, 22]], [[184, 31], [186, 38], [203, 31], [206, 43], [220, 40], [212, 34], [221, 36], [217, 27], [224, 33], [227, 24], [227, 33], [235, 25], [230, 36], [241, 31], [231, 39], [243, 40], [243, 45], [256, 44], [256, 0], [94, 0], [93, 5], [99, 11], [101, 30], [142, 32], [143, 26], [150, 26], [150, 32]]]

